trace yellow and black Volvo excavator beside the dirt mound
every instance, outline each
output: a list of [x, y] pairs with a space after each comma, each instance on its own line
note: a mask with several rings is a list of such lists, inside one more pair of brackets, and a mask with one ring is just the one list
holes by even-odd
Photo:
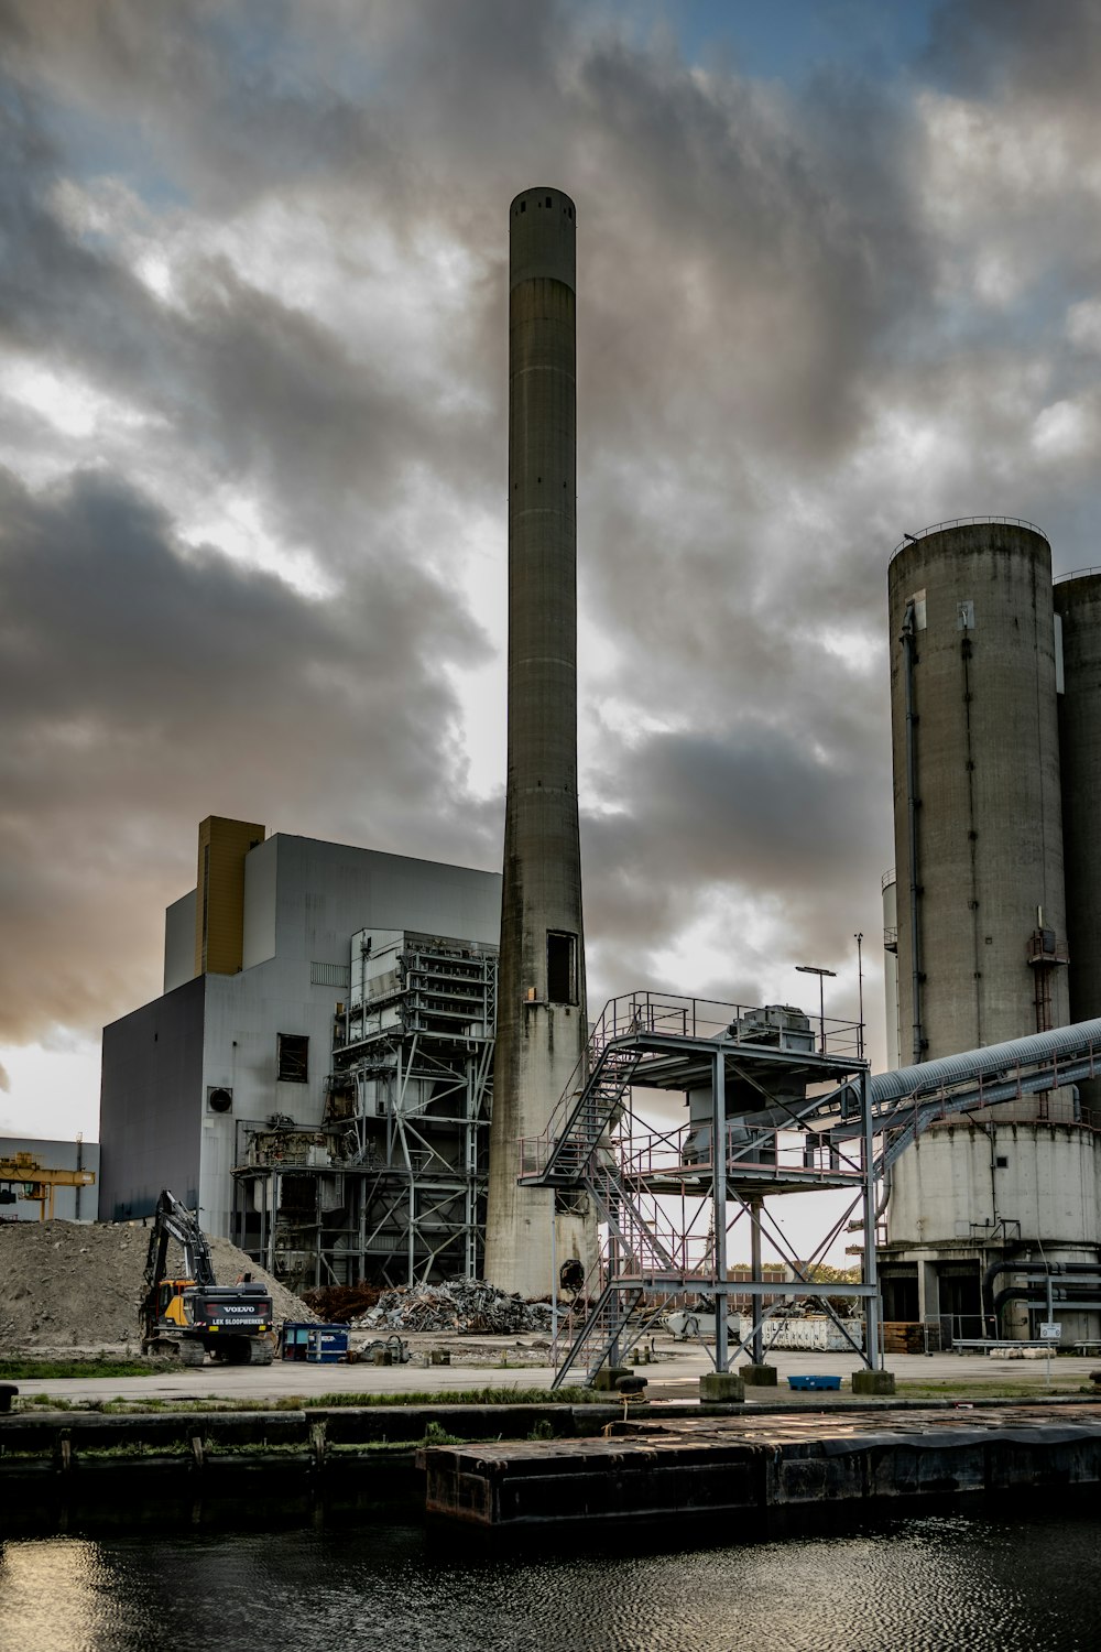
[[[183, 1251], [183, 1277], [168, 1277], [168, 1241]], [[210, 1353], [228, 1365], [271, 1365], [272, 1307], [266, 1285], [249, 1279], [220, 1285], [198, 1219], [165, 1188], [149, 1234], [140, 1307], [142, 1353], [177, 1355], [201, 1365]]]

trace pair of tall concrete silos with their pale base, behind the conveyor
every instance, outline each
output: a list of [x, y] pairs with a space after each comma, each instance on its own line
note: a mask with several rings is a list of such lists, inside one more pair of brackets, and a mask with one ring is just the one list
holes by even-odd
[[[1101, 1014], [1101, 577], [1032, 524], [906, 535], [888, 573], [888, 1047], [933, 1062]], [[933, 1120], [893, 1165], [886, 1320], [1101, 1333], [1098, 1084]]]

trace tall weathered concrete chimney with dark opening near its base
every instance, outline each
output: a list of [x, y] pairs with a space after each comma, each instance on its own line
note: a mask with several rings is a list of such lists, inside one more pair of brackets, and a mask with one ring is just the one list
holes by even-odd
[[[510, 208], [508, 781], [485, 1277], [525, 1297], [594, 1252], [583, 1201], [518, 1188], [588, 1037], [578, 849], [574, 206]], [[563, 1208], [565, 1206], [565, 1208]]]

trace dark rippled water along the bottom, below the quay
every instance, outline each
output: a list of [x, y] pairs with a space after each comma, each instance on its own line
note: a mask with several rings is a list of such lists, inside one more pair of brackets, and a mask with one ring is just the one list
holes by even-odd
[[456, 1555], [414, 1528], [8, 1543], [0, 1652], [1073, 1652], [1101, 1520], [928, 1517], [703, 1551]]

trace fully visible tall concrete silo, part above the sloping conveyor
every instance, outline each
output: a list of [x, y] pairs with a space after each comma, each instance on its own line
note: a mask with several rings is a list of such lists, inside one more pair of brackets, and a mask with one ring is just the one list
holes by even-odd
[[888, 600], [905, 1066], [1068, 1019], [1051, 552], [941, 524]]

